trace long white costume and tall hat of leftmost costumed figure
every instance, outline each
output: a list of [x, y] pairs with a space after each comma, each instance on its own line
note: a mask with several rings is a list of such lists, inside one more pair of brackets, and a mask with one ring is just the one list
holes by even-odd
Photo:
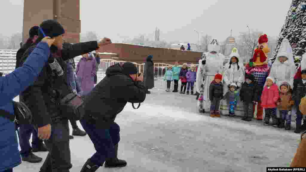
[[[217, 52], [212, 54], [212, 52]], [[208, 45], [208, 52], [203, 54], [203, 58], [199, 61], [199, 68], [197, 71], [197, 83], [196, 87], [200, 93], [198, 100], [199, 112], [204, 113], [210, 111], [211, 101], [209, 100], [209, 86], [215, 79], [217, 73], [222, 74], [224, 55], [218, 53], [220, 51], [220, 45], [216, 39], [213, 39], [211, 44]], [[202, 64], [202, 61], [206, 60], [206, 64]], [[204, 79], [204, 80], [203, 80]]]

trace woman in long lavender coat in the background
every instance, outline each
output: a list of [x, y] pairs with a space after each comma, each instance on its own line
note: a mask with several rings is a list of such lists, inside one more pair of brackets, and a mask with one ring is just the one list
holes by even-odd
[[81, 85], [83, 95], [87, 95], [94, 88], [96, 73], [96, 60], [89, 54], [83, 54], [76, 65], [76, 80]]

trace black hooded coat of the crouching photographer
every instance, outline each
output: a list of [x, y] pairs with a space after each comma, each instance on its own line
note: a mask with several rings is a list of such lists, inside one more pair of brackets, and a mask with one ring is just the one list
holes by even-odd
[[145, 98], [143, 82], [134, 82], [122, 73], [119, 64], [112, 65], [106, 69], [106, 77], [85, 97], [85, 114], [94, 117], [103, 129], [108, 129], [126, 103], [141, 103]]

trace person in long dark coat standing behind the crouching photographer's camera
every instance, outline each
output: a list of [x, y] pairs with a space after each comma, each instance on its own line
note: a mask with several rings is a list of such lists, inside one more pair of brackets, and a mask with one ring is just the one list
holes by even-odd
[[144, 85], [147, 88], [147, 94], [150, 94], [148, 89], [154, 87], [154, 63], [152, 61], [153, 56], [149, 55], [144, 63]]

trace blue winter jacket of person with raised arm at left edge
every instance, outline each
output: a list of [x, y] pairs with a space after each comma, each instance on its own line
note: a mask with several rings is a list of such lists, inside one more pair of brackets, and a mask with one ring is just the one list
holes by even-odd
[[[50, 56], [47, 43], [39, 43], [24, 64], [12, 73], [0, 77], [0, 109], [14, 114], [13, 98], [34, 84]], [[0, 171], [21, 164], [15, 123], [0, 116]]]

